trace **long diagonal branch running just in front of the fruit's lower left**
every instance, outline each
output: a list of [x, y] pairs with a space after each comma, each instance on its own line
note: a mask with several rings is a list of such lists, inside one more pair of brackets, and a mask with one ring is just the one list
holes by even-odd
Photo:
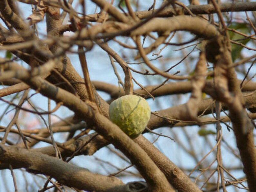
[[56, 102], [62, 101], [64, 106], [73, 110], [87, 122], [95, 125], [95, 130], [109, 140], [116, 148], [120, 149], [137, 167], [143, 175], [151, 190], [168, 191], [171, 189], [163, 173], [156, 167], [151, 158], [136, 145], [120, 128], [97, 111], [93, 103], [86, 105], [73, 94], [57, 88], [40, 77], [23, 79], [44, 96]]

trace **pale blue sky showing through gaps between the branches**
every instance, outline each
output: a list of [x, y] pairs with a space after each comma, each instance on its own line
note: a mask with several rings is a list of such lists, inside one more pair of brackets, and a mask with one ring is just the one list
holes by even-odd
[[[90, 1], [87, 1], [90, 2]], [[150, 1], [151, 2], [151, 1]], [[153, 2], [153, 1], [152, 1]], [[147, 4], [148, 2], [146, 1], [142, 1], [142, 4]], [[161, 3], [160, 1], [157, 1], [158, 5], [159, 3]], [[77, 2], [74, 1], [74, 7], [78, 7]], [[158, 6], [157, 5], [157, 6]], [[27, 18], [29, 16], [29, 14], [31, 14], [30, 11], [31, 7], [29, 5], [24, 5], [24, 4], [19, 4], [20, 8], [23, 10], [23, 18]], [[142, 5], [144, 6], [144, 5]], [[88, 3], [87, 4], [87, 13], [94, 13], [95, 10], [95, 5]], [[27, 10], [27, 11], [26, 11]], [[67, 22], [67, 21], [66, 21]], [[38, 29], [40, 32], [42, 32], [43, 34], [46, 33], [46, 28], [45, 28], [45, 22], [42, 22], [40, 24], [38, 24]], [[43, 35], [41, 34], [41, 36]], [[72, 35], [71, 32], [67, 32], [64, 35], [66, 36], [70, 36]], [[192, 37], [191, 34], [187, 34], [187, 38], [190, 39]], [[186, 41], [186, 40], [184, 40]], [[131, 44], [133, 42], [129, 41]], [[150, 41], [147, 41], [145, 43], [145, 46], [149, 45]], [[117, 53], [128, 53], [126, 52], [125, 49], [119, 47], [117, 45], [117, 43], [113, 43], [110, 42], [109, 45], [114, 49], [117, 50]], [[254, 46], [254, 45], [252, 45]], [[73, 47], [74, 50], [76, 50], [76, 47]], [[157, 60], [157, 61], [153, 61], [154, 65], [159, 67], [159, 68], [168, 68], [170, 66], [172, 66], [173, 63], [176, 63], [180, 60], [181, 57], [181, 52], [174, 52], [173, 50], [175, 50], [176, 48], [170, 48], [170, 49], [164, 49], [163, 52], [161, 53], [163, 55], [163, 58]], [[192, 48], [187, 49], [185, 52], [188, 53], [189, 51], [191, 51]], [[199, 51], [195, 51], [194, 53], [192, 53], [192, 56], [197, 57], [197, 54], [199, 53]], [[131, 52], [128, 54], [129, 57], [127, 57], [127, 62], [134, 62], [132, 60], [132, 57], [136, 54], [136, 52]], [[249, 56], [251, 55], [252, 52], [251, 51], [244, 51], [243, 55], [244, 56]], [[4, 52], [0, 52], [0, 56], [4, 56], [5, 53]], [[151, 54], [149, 54], [149, 58], [155, 58], [156, 56], [150, 56]], [[72, 63], [74, 64], [74, 68], [76, 69], [76, 71], [83, 76], [82, 70], [81, 70], [81, 66], [78, 60], [78, 56], [76, 54], [73, 53], [68, 53], [68, 56], [70, 57]], [[162, 65], [162, 63], [165, 61], [165, 59], [168, 59], [169, 57], [173, 57], [172, 63], [168, 64], [168, 65]], [[113, 69], [112, 66], [110, 65], [109, 62], [109, 58], [108, 55], [101, 50], [99, 47], [95, 46], [93, 48], [92, 51], [86, 53], [86, 58], [87, 58], [87, 62], [88, 62], [88, 68], [89, 68], [89, 72], [90, 72], [90, 78], [92, 81], [103, 81], [103, 82], [108, 82], [111, 84], [115, 84], [118, 85], [118, 80], [116, 78], [115, 75], [113, 75]], [[190, 65], [190, 69], [193, 69], [193, 66], [195, 65], [196, 60], [189, 60], [189, 65]], [[26, 64], [24, 64], [26, 66]], [[124, 75], [122, 72], [121, 67], [118, 66], [117, 63], [115, 63], [115, 66], [117, 68], [118, 73], [120, 74], [121, 78], [124, 79]], [[141, 65], [131, 65], [134, 69], [137, 70], [141, 70]], [[145, 65], [143, 65], [143, 67], [145, 67]], [[210, 66], [211, 67], [211, 66]], [[175, 70], [181, 70], [184, 71], [184, 65], [180, 65], [178, 66]], [[253, 68], [251, 69], [251, 72], [249, 75], [253, 75], [253, 73], [255, 73], [256, 69], [253, 66]], [[99, 75], [100, 74], [100, 75]], [[112, 75], [110, 75], [112, 74]], [[149, 85], [149, 84], [159, 84], [161, 82], [163, 82], [165, 79], [163, 77], [160, 76], [155, 76], [155, 77], [147, 77], [144, 78], [142, 75], [139, 75], [137, 73], [132, 72], [133, 77], [139, 81], [140, 84], [143, 85]], [[134, 89], [139, 88], [138, 85], [136, 85], [134, 83]], [[29, 95], [32, 95], [34, 93], [34, 91], [30, 91]], [[100, 92], [100, 95], [103, 97], [103, 99], [108, 100], [110, 99], [110, 96]], [[177, 105], [177, 104], [182, 104], [185, 103], [186, 101], [188, 101], [189, 98], [189, 94], [184, 94], [184, 95], [180, 95], [179, 99], [175, 98], [174, 96], [162, 96], [159, 98], [156, 98], [155, 101], [153, 101], [153, 99], [148, 99], [149, 105], [151, 107], [152, 111], [155, 110], [161, 110], [161, 109], [166, 109], [168, 107]], [[9, 97], [10, 98], [10, 97]], [[8, 99], [9, 99], [8, 98]], [[7, 99], [7, 97], [5, 98]], [[41, 96], [40, 94], [36, 94], [31, 98], [31, 101], [36, 103], [38, 107], [47, 110], [47, 99], [43, 96]], [[39, 101], [39, 102], [38, 102]], [[17, 100], [18, 102], [18, 100]], [[6, 104], [0, 104], [1, 105], [1, 109], [5, 109], [5, 107], [7, 106]], [[27, 105], [28, 107], [29, 105]], [[52, 106], [55, 106], [55, 103], [52, 102]], [[9, 113], [7, 113], [5, 115], [5, 118], [0, 122], [0, 125], [2, 126], [6, 126], [9, 122], [9, 120], [12, 118], [14, 111], [11, 111]], [[68, 110], [65, 107], [61, 107], [60, 110], [58, 110], [56, 113], [57, 116], [60, 116], [62, 118], [64, 117], [68, 117], [70, 115], [72, 115], [73, 113]], [[31, 114], [26, 114], [24, 112], [21, 112], [21, 115], [24, 116], [23, 119], [26, 118], [26, 120], [23, 122], [22, 127], [26, 127], [28, 129], [34, 129], [34, 128], [40, 128], [40, 127], [44, 127], [43, 123], [41, 120], [35, 118], [34, 115]], [[46, 116], [45, 116], [46, 118]], [[53, 121], [58, 121], [58, 118], [56, 116], [52, 117]], [[28, 122], [29, 120], [29, 122]], [[225, 138], [226, 141], [228, 141], [229, 145], [231, 146], [236, 146], [235, 143], [235, 138], [233, 136], [233, 134], [231, 134], [224, 125], [222, 125], [223, 128], [223, 138]], [[215, 125], [211, 125], [208, 127], [208, 129], [210, 130], [215, 130]], [[187, 148], [190, 149], [191, 147], [197, 149], [197, 153], [200, 155], [200, 157], [203, 157], [207, 152], [209, 152], [211, 150], [211, 148], [209, 148], [208, 146], [206, 146], [206, 149], [204, 149], [203, 151], [202, 146], [205, 145], [205, 142], [212, 142], [214, 141], [214, 135], [210, 135], [207, 137], [199, 137], [197, 134], [197, 131], [200, 130], [200, 127], [198, 126], [191, 126], [188, 129], [186, 129], [186, 132], [182, 129], [182, 128], [160, 128], [157, 130], [154, 130], [155, 132], [158, 133], [163, 133], [166, 134], [170, 137], [177, 137], [179, 139], [179, 141], [182, 142], [182, 144]], [[186, 133], [186, 134], [185, 134]], [[3, 133], [0, 133], [0, 136], [2, 136]], [[150, 141], [154, 141], [157, 136], [153, 135], [151, 133], [146, 133], [144, 134], [145, 137], [147, 139], [149, 139]], [[56, 140], [63, 140], [67, 135], [65, 134], [54, 134], [54, 138]], [[189, 138], [194, 138], [193, 141], [193, 146], [191, 146], [191, 142], [190, 140], [188, 140]], [[177, 144], [178, 143], [178, 144]], [[214, 146], [215, 143], [212, 142], [212, 146]], [[47, 146], [47, 144], [45, 143], [40, 143], [38, 145], [36, 145], [36, 147], [43, 147], [43, 146]], [[176, 165], [184, 168], [184, 169], [191, 169], [196, 165], [196, 161], [194, 158], [192, 158], [192, 156], [188, 155], [187, 152], [185, 152], [182, 147], [179, 145], [179, 142], [176, 141], [170, 141], [170, 139], [165, 138], [165, 137], [160, 137], [158, 139], [158, 141], [155, 143], [155, 146], [158, 147], [168, 158], [170, 158], [170, 160], [172, 160], [172, 162], [174, 162]], [[116, 150], [113, 148], [113, 146], [109, 146], [111, 149]], [[209, 149], [207, 149], [209, 148]], [[222, 153], [223, 154], [227, 154], [229, 153], [227, 149], [222, 148]], [[176, 155], [179, 154], [179, 155]], [[104, 157], [104, 158], [102, 158]], [[209, 155], [208, 157], [209, 159], [213, 159], [214, 156], [213, 154]], [[206, 159], [208, 159], [206, 158]], [[88, 168], [90, 169], [90, 171], [92, 172], [97, 172], [100, 174], [104, 174], [104, 175], [108, 175], [111, 172], [113, 172], [113, 168], [111, 166], [108, 166], [106, 163], [100, 162], [98, 159], [103, 159], [107, 162], [112, 162], [115, 164], [115, 166], [119, 167], [119, 168], [124, 168], [126, 166], [129, 165], [129, 163], [120, 160], [120, 158], [118, 158], [115, 155], [110, 155], [109, 149], [100, 149], [99, 151], [97, 151], [95, 153], [94, 156], [79, 156], [74, 158], [71, 163], [76, 164], [77, 166], [80, 167], [84, 167], [84, 168]], [[231, 154], [226, 155], [225, 159], [223, 159], [224, 161], [224, 165], [229, 167], [229, 166], [233, 166], [233, 165], [239, 165], [240, 161], [237, 158], [234, 158]], [[99, 168], [100, 165], [100, 168]], [[213, 167], [216, 167], [216, 165], [214, 164]], [[134, 168], [129, 168], [129, 171], [134, 171]], [[39, 188], [34, 188], [37, 184], [39, 186], [43, 186], [44, 184], [44, 177], [42, 175], [31, 175], [25, 172], [24, 169], [21, 170], [14, 170], [15, 172], [15, 176], [17, 179], [17, 184], [18, 184], [18, 189], [20, 191], [37, 191]], [[232, 174], [235, 175], [237, 178], [243, 177], [243, 173], [238, 172], [238, 171], [232, 171]], [[24, 176], [26, 177], [26, 179], [24, 180]], [[36, 179], [34, 179], [36, 178]], [[141, 180], [140, 178], [134, 178], [134, 177], [121, 177], [123, 182], [130, 182], [130, 181], [134, 181], [134, 180]], [[34, 185], [35, 184], [35, 185]], [[7, 187], [6, 187], [7, 186]], [[14, 191], [14, 187], [13, 187], [13, 181], [12, 181], [12, 176], [10, 174], [9, 170], [2, 170], [0, 171], [0, 191], [7, 191], [7, 189], [9, 191]], [[228, 188], [229, 189], [229, 188]], [[67, 189], [69, 190], [69, 189]], [[231, 191], [231, 190], [229, 190]]]

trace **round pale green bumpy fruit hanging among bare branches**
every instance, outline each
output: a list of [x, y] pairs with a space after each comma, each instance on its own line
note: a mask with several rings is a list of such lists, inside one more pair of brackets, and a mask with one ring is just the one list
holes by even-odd
[[139, 136], [150, 119], [148, 102], [137, 95], [125, 95], [109, 106], [110, 120], [130, 138]]

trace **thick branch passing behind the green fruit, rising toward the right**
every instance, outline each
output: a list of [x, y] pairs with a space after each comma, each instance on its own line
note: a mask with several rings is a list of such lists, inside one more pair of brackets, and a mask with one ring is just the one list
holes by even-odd
[[[245, 95], [245, 101], [246, 101], [246, 106], [248, 108], [250, 108], [250, 106], [255, 106], [255, 101], [256, 101], [256, 94], [248, 94]], [[180, 108], [183, 107], [184, 104], [179, 105], [179, 106], [175, 106], [175, 107], [171, 107], [165, 110], [160, 110], [157, 111], [155, 114], [151, 115], [151, 120], [148, 123], [148, 127], [151, 130], [157, 129], [159, 127], [176, 127], [176, 125], [180, 125], [180, 126], [185, 126], [185, 125], [194, 125], [194, 121], [180, 121], [179, 119], [177, 119], [178, 115], [177, 114], [177, 110], [179, 110]], [[212, 113], [212, 108], [215, 108], [215, 104], [213, 102], [212, 99], [204, 99], [200, 102], [199, 104], [199, 111], [198, 111], [198, 115], [202, 115], [202, 113], [204, 115], [207, 114], [211, 114]], [[227, 110], [227, 106], [223, 105], [222, 106], [223, 110]], [[252, 114], [251, 118], [255, 119], [255, 114]], [[209, 118], [202, 118], [202, 124], [204, 124], [204, 121], [206, 122], [215, 122], [213, 121], [213, 119], [209, 119]], [[229, 121], [229, 118], [225, 117], [224, 119], [221, 118], [223, 120], [223, 122], [225, 121]], [[77, 146], [83, 145], [84, 142], [87, 142], [88, 139], [90, 139], [92, 137], [92, 135], [88, 135], [86, 137], [80, 138], [77, 141], [75, 141], [74, 143], [69, 143], [67, 141], [68, 145], [65, 145], [65, 143], [63, 144], [65, 149], [68, 149], [69, 151], [62, 151], [62, 156], [64, 157], [68, 157], [72, 154], [72, 151], [75, 151]], [[109, 142], [106, 141], [105, 139], [103, 139], [102, 136], [98, 135], [95, 139], [92, 140], [91, 143], [89, 143], [82, 151], [80, 151], [81, 153], [79, 154], [87, 154], [87, 155], [93, 155], [97, 150], [101, 149], [102, 147], [108, 145]], [[44, 147], [44, 148], [38, 148], [38, 149], [31, 149], [31, 150], [35, 150], [41, 153], [45, 153], [51, 156], [54, 156], [54, 151], [52, 147]]]

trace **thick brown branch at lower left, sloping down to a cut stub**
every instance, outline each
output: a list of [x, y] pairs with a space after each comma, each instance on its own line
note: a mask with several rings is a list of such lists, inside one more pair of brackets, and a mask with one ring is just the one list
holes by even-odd
[[[89, 191], [121, 191], [124, 184], [117, 178], [90, 173], [57, 158], [34, 151], [0, 145], [1, 163], [26, 168], [28, 172], [49, 175], [61, 184]], [[101, 181], [101, 185], [98, 185]]]

